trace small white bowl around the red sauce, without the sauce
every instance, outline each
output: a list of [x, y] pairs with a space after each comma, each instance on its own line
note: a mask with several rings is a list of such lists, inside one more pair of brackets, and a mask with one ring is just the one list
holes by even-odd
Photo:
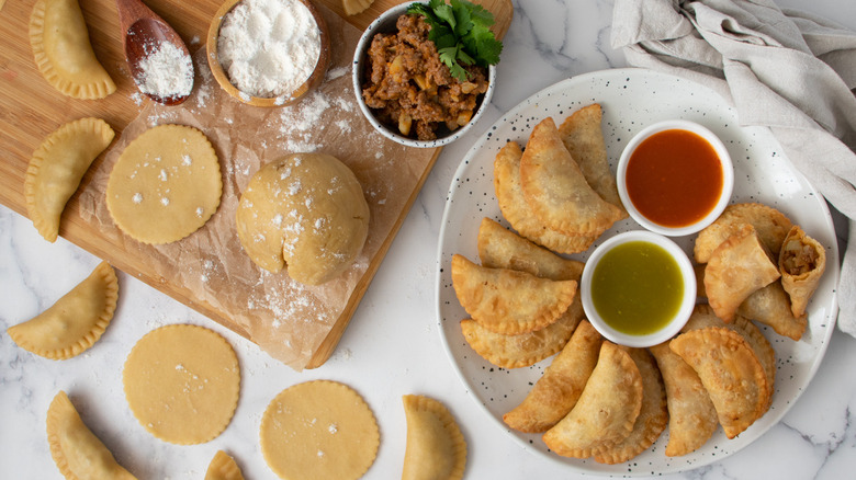
[[[637, 147], [639, 147], [642, 141], [652, 135], [672, 129], [688, 130], [707, 140], [708, 144], [713, 147], [713, 150], [719, 157], [720, 163], [722, 165], [722, 191], [720, 192], [719, 199], [713, 206], [713, 209], [711, 209], [698, 221], [683, 227], [667, 227], [650, 220], [637, 209], [637, 207], [633, 205], [633, 202], [630, 199], [630, 195], [627, 190], [628, 162], [630, 161], [630, 157], [633, 155]], [[708, 128], [697, 123], [684, 119], [658, 122], [643, 128], [639, 134], [633, 136], [633, 138], [631, 138], [628, 145], [624, 147], [624, 150], [621, 152], [621, 158], [618, 161], [618, 172], [616, 178], [618, 183], [618, 195], [621, 197], [621, 202], [624, 204], [624, 208], [627, 208], [628, 214], [630, 214], [630, 216], [633, 217], [633, 219], [645, 229], [668, 237], [683, 237], [696, 233], [702, 228], [712, 224], [713, 220], [716, 220], [722, 214], [722, 210], [724, 210], [728, 206], [731, 199], [732, 190], [734, 188], [734, 167], [731, 162], [731, 156], [729, 155], [725, 145], [722, 144], [722, 140], [720, 140], [719, 137], [717, 137], [717, 135], [714, 135]]]

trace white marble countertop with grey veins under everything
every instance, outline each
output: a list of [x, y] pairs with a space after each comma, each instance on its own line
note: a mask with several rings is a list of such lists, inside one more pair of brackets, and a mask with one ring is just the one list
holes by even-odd
[[[85, 422], [140, 479], [202, 479], [225, 449], [247, 479], [274, 478], [258, 444], [261, 414], [282, 389], [333, 379], [358, 390], [381, 428], [378, 458], [364, 478], [401, 476], [406, 424], [401, 397], [423, 393], [447, 404], [469, 446], [465, 478], [571, 479], [566, 467], [525, 452], [470, 398], [454, 374], [436, 318], [436, 253], [444, 198], [464, 153], [502, 113], [567, 77], [626, 66], [609, 46], [612, 4], [598, 0], [515, 0], [497, 91], [474, 132], [447, 147], [372, 282], [333, 357], [296, 373], [255, 344], [120, 273], [120, 305], [95, 346], [64, 362], [19, 348], [4, 332], [50, 306], [99, 259], [59, 239], [44, 241], [25, 218], [0, 207], [0, 477], [61, 478], [50, 459], [45, 412], [66, 390]], [[849, 0], [782, 0], [856, 30]], [[804, 4], [803, 4], [804, 3]], [[1, 140], [0, 140], [1, 142]], [[1, 148], [1, 144], [0, 144]], [[838, 232], [842, 237], [846, 232]], [[227, 430], [202, 445], [150, 436], [122, 391], [122, 364], [154, 328], [195, 323], [222, 333], [241, 365], [240, 401]], [[853, 478], [856, 470], [856, 340], [835, 331], [814, 379], [782, 421], [748, 447], [710, 466], [666, 476], [686, 479]]]

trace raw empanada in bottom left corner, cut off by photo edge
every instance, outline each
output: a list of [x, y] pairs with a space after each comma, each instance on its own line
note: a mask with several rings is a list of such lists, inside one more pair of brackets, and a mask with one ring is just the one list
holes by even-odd
[[47, 443], [59, 472], [68, 480], [136, 480], [80, 420], [61, 390], [47, 409]]

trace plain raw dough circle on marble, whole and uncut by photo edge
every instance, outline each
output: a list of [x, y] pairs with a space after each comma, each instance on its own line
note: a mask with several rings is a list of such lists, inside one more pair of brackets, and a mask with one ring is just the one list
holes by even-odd
[[219, 435], [238, 404], [235, 351], [203, 327], [161, 327], [139, 339], [125, 361], [125, 398], [156, 437], [193, 445]]

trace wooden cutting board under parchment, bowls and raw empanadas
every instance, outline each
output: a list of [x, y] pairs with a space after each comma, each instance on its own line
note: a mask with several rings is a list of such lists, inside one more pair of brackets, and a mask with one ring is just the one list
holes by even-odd
[[[140, 107], [132, 95], [137, 92], [127, 75], [119, 18], [112, 0], [79, 0], [83, 11], [90, 39], [97, 57], [116, 82], [117, 91], [99, 101], [82, 101], [67, 98], [54, 90], [40, 75], [33, 61], [27, 36], [30, 13], [35, 0], [3, 3], [0, 0], [0, 203], [21, 215], [26, 215], [23, 184], [24, 174], [32, 152], [44, 138], [59, 125], [71, 119], [97, 116], [105, 119], [117, 136], [139, 113]], [[376, 0], [367, 11], [347, 16], [340, 0], [316, 0], [348, 23], [364, 30], [378, 14], [402, 1]], [[169, 22], [184, 38], [191, 50], [202, 46], [211, 20], [219, 7], [218, 0], [179, 2], [171, 0], [146, 0], [146, 4]], [[489, 9], [495, 18], [495, 32], [502, 37], [508, 30], [513, 16], [510, 0], [477, 1]], [[334, 46], [350, 48], [354, 45]], [[350, 55], [350, 54], [349, 54]], [[358, 140], [354, 140], [358, 141]], [[318, 367], [329, 358], [348, 325], [360, 299], [369, 287], [383, 256], [392, 244], [404, 218], [416, 199], [428, 176], [440, 149], [413, 149], [413, 155], [427, 156], [427, 168], [415, 185], [407, 202], [401, 208], [395, 225], [384, 239], [379, 252], [349, 298], [348, 305], [336, 320], [330, 332], [314, 352], [307, 367]], [[86, 185], [92, 171], [102, 158], [93, 162], [81, 185]], [[67, 205], [60, 225], [60, 236], [92, 254], [110, 261], [114, 266], [143, 279], [155, 288], [212, 318], [218, 323], [250, 338], [239, 324], [230, 319], [228, 311], [213, 308], [199, 301], [192, 292], [181, 285], [165, 282], [150, 265], [146, 255], [135, 255], [122, 241], [100, 235], [95, 225], [78, 215], [77, 195]]]

